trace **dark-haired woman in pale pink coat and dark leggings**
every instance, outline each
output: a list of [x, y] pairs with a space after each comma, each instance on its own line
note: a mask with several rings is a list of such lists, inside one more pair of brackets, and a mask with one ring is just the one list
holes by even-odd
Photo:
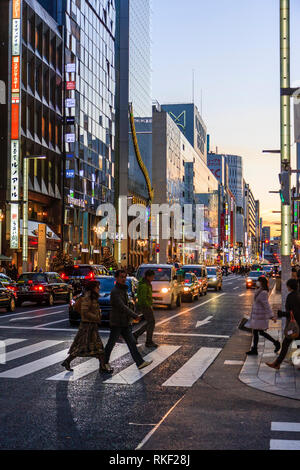
[[276, 320], [275, 315], [272, 312], [269, 304], [269, 282], [264, 276], [261, 276], [257, 282], [258, 290], [255, 293], [254, 303], [251, 312], [251, 318], [249, 321], [249, 328], [253, 330], [253, 345], [248, 356], [257, 356], [257, 346], [259, 335], [271, 341], [275, 346], [275, 353], [280, 350], [280, 342], [276, 341], [272, 336], [266, 333], [269, 327], [269, 320], [273, 318]]

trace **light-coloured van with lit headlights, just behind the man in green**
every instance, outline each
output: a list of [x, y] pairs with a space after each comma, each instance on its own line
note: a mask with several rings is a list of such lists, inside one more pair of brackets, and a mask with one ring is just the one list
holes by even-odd
[[183, 283], [178, 281], [176, 268], [170, 264], [142, 264], [137, 270], [137, 279], [142, 279], [148, 270], [155, 274], [152, 282], [153, 305], [166, 305], [169, 309], [180, 307]]

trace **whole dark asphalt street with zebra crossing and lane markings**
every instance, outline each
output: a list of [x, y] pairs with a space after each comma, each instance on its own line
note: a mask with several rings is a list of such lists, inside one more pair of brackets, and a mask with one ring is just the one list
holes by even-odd
[[[272, 423], [294, 423], [298, 402], [238, 380], [251, 338], [237, 325], [253, 295], [231, 275], [222, 292], [156, 309], [159, 348], [146, 349], [143, 338], [139, 346], [153, 364], [137, 371], [119, 343], [111, 378], [99, 375], [94, 359], [76, 359], [73, 374], [62, 369], [76, 334], [66, 304], [3, 313], [1, 449], [267, 450], [272, 439], [296, 439]], [[106, 342], [105, 327], [101, 336]]]

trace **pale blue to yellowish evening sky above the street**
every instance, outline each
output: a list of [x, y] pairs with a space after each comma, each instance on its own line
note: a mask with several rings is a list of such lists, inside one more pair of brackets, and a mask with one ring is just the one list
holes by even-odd
[[[280, 148], [279, 0], [152, 0], [152, 9], [153, 99], [191, 102], [195, 71], [211, 149], [243, 157], [263, 224], [278, 236], [280, 199], [269, 191], [279, 189], [280, 158], [262, 150]], [[299, 24], [291, 0], [292, 86], [300, 84]], [[295, 144], [292, 154], [295, 165]]]

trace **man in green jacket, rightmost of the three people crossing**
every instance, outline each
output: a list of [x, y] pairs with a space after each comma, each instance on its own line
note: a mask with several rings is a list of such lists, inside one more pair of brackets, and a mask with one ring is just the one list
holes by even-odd
[[158, 345], [153, 341], [153, 332], [155, 328], [155, 318], [153, 312], [153, 299], [152, 299], [152, 282], [154, 281], [155, 272], [152, 269], [148, 269], [145, 272], [145, 276], [140, 280], [137, 288], [137, 300], [138, 300], [138, 312], [144, 316], [146, 320], [145, 324], [134, 333], [136, 342], [138, 342], [139, 336], [147, 331], [146, 347], [147, 348], [158, 348]]

